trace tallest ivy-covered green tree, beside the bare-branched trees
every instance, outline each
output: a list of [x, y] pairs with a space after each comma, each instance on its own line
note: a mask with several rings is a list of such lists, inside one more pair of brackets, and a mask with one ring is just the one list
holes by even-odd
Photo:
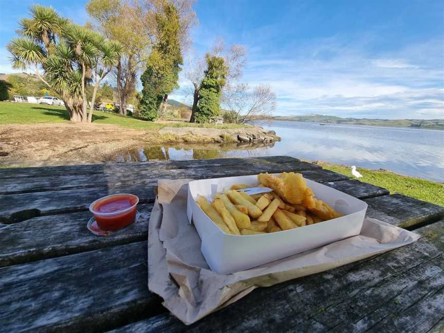
[[141, 76], [143, 85], [140, 114], [147, 120], [160, 118], [168, 104], [168, 94], [178, 87], [180, 65], [183, 64], [180, 36], [180, 17], [176, 6], [162, 2], [162, 10], [155, 14], [157, 43], [146, 62]]

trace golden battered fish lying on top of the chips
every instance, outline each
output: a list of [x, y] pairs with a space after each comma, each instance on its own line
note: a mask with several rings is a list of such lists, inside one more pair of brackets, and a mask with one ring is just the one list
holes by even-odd
[[257, 176], [257, 179], [265, 187], [273, 189], [285, 201], [290, 204], [302, 205], [324, 220], [342, 216], [324, 201], [315, 197], [300, 173], [283, 172], [279, 177], [262, 173]]

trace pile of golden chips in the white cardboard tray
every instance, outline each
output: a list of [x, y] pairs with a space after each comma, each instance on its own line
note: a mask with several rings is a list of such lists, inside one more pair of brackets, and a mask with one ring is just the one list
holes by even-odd
[[320, 223], [322, 218], [302, 205], [289, 204], [273, 192], [248, 195], [236, 190], [250, 188], [235, 184], [215, 195], [213, 201], [199, 195], [197, 205], [223, 232], [233, 235], [257, 235]]

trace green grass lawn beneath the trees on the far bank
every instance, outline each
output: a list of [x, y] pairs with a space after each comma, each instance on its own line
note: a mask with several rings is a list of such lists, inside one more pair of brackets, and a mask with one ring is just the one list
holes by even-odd
[[[62, 123], [69, 122], [69, 115], [63, 106], [50, 106], [31, 103], [0, 102], [0, 124], [32, 124], [32, 123]], [[136, 130], [158, 130], [163, 127], [214, 127], [240, 128], [247, 125], [238, 124], [192, 124], [188, 122], [171, 122], [160, 124], [140, 120], [130, 116], [94, 111], [93, 122], [98, 124], [114, 124]]]

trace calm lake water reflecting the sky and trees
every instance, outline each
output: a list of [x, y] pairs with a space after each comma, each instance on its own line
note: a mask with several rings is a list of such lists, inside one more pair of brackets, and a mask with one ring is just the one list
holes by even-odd
[[118, 161], [287, 155], [444, 181], [444, 131], [295, 121], [257, 123], [281, 138], [270, 146], [140, 147]]

